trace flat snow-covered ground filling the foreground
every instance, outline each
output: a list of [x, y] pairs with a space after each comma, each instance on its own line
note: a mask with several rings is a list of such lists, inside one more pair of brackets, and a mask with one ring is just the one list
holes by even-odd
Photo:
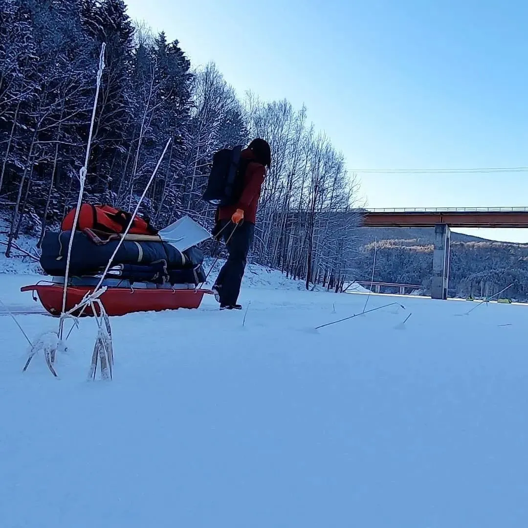
[[[0, 276], [0, 298], [38, 310], [18, 291], [33, 280]], [[112, 382], [86, 379], [92, 319], [55, 380], [42, 357], [22, 374], [0, 316], [0, 526], [528, 526], [528, 307], [371, 296], [406, 309], [315, 332], [366, 296], [249, 300], [244, 326], [211, 298], [113, 318]]]

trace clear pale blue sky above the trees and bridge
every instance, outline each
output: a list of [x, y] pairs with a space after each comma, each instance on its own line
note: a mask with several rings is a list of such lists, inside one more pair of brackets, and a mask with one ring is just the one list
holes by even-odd
[[[528, 2], [125, 2], [240, 93], [305, 103], [351, 170], [528, 166]], [[528, 206], [528, 172], [360, 179], [371, 208]]]

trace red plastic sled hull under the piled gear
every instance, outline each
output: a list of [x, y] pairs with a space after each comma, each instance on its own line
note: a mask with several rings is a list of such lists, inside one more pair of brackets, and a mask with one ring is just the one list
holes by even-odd
[[[35, 291], [42, 306], [53, 316], [59, 317], [62, 312], [63, 286], [58, 284], [36, 284], [24, 286], [21, 291]], [[76, 306], [84, 295], [93, 291], [92, 286], [69, 286], [66, 294], [66, 311]], [[135, 312], [161, 312], [162, 310], [176, 310], [178, 308], [199, 308], [203, 296], [212, 293], [209, 290], [184, 289], [128, 289], [108, 288], [100, 297], [109, 316], [126, 315]], [[92, 309], [88, 306], [82, 314], [76, 316], [93, 317]]]

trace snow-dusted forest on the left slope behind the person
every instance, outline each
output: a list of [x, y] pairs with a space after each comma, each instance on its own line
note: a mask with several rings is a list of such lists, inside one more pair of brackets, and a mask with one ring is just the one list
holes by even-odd
[[0, 208], [7, 255], [22, 231], [40, 240], [76, 202], [102, 43], [101, 93], [85, 201], [131, 210], [172, 144], [141, 213], [158, 227], [188, 214], [211, 227], [201, 196], [212, 154], [254, 137], [273, 163], [253, 260], [339, 284], [353, 266], [356, 185], [305, 108], [242, 100], [214, 64], [134, 27], [122, 0], [0, 0]]

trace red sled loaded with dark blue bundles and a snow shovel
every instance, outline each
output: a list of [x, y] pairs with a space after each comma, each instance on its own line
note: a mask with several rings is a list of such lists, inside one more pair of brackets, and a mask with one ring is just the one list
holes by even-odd
[[[96, 219], [95, 214], [93, 218]], [[32, 291], [34, 299], [38, 298], [51, 315], [58, 317], [62, 313], [67, 266], [65, 312], [78, 306], [101, 280], [106, 291], [100, 301], [109, 316], [199, 308], [203, 296], [213, 293], [199, 287], [206, 275], [203, 253], [196, 245], [211, 235], [187, 216], [159, 232], [148, 225], [142, 233], [138, 223], [136, 232], [126, 235], [122, 241], [116, 225], [108, 223], [105, 227], [101, 218], [97, 220], [95, 225], [78, 223], [75, 230], [73, 225], [63, 222], [62, 231], [46, 231], [44, 235], [40, 265], [51, 279], [25, 286], [21, 291]], [[103, 277], [119, 242], [119, 249]], [[99, 315], [93, 313], [93, 310], [97, 312], [97, 305], [91, 306], [72, 315]]]

